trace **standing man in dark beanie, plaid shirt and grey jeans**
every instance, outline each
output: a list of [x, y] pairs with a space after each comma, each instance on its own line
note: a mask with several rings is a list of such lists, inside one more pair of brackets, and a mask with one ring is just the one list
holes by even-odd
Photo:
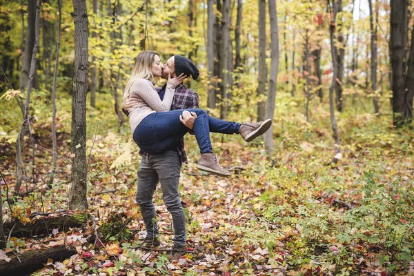
[[[168, 74], [175, 77], [184, 73], [193, 79], [199, 77], [199, 70], [190, 59], [183, 56], [172, 56], [163, 66], [162, 78], [168, 79]], [[159, 97], [164, 99], [166, 86], [157, 88]], [[197, 93], [188, 89], [183, 83], [175, 88], [174, 99], [172, 100], [171, 110], [199, 108], [199, 98]], [[184, 110], [180, 121], [190, 129], [193, 129], [194, 121], [197, 118], [195, 113]], [[148, 154], [142, 150], [139, 151], [142, 156], [141, 164], [138, 170], [137, 185], [137, 204], [141, 209], [141, 215], [146, 224], [147, 236], [145, 239], [146, 246], [159, 246], [159, 228], [155, 215], [155, 207], [152, 202], [157, 183], [161, 184], [162, 197], [168, 212], [172, 215], [172, 225], [174, 227], [174, 250], [186, 250], [186, 216], [181, 206], [179, 198], [179, 177], [182, 163], [188, 163], [186, 152], [184, 150], [184, 138], [176, 150], [167, 152]]]

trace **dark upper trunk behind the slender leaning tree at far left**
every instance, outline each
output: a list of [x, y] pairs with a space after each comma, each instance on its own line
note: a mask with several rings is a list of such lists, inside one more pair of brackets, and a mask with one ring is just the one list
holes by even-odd
[[20, 90], [28, 86], [30, 64], [34, 48], [36, 24], [36, 1], [28, 0], [28, 31], [26, 32], [26, 45], [24, 46], [23, 59], [21, 61]]

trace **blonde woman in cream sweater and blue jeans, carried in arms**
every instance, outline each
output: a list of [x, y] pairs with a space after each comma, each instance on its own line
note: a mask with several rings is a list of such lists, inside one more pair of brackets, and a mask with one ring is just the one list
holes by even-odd
[[[157, 81], [161, 74], [162, 65], [157, 53], [141, 52], [135, 59], [131, 79], [126, 84], [124, 92], [124, 109], [129, 112], [134, 141], [141, 150], [148, 153], [174, 150], [181, 137], [189, 130], [179, 119], [183, 110], [170, 111], [175, 87], [187, 76], [169, 76], [164, 99], [161, 100], [154, 86], [154, 81]], [[213, 155], [210, 129], [223, 133], [220, 131], [223, 126], [233, 126], [235, 123], [209, 117], [207, 112], [201, 109], [189, 109], [188, 112], [197, 114], [193, 128], [201, 153], [197, 168], [218, 175], [231, 175], [231, 172], [220, 166], [217, 157]], [[251, 141], [266, 132], [270, 125], [270, 119], [256, 124], [237, 124], [235, 133], [242, 135], [245, 141]]]

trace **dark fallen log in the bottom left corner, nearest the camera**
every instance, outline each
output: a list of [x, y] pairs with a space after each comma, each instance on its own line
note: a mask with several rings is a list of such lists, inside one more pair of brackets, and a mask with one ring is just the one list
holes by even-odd
[[30, 275], [43, 268], [48, 259], [58, 262], [75, 254], [75, 249], [66, 248], [64, 245], [46, 250], [29, 250], [15, 255], [10, 262], [0, 261], [0, 275]]

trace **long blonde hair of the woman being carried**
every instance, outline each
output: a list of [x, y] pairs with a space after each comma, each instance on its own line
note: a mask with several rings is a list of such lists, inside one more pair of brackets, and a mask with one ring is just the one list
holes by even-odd
[[131, 78], [126, 83], [124, 96], [122, 97], [122, 105], [125, 106], [126, 99], [128, 99], [129, 90], [132, 84], [137, 79], [148, 79], [149, 81], [158, 82], [158, 78], [154, 78], [152, 75], [152, 62], [155, 59], [155, 56], [158, 54], [152, 51], [142, 51], [139, 55], [135, 58], [134, 67], [132, 67]]

